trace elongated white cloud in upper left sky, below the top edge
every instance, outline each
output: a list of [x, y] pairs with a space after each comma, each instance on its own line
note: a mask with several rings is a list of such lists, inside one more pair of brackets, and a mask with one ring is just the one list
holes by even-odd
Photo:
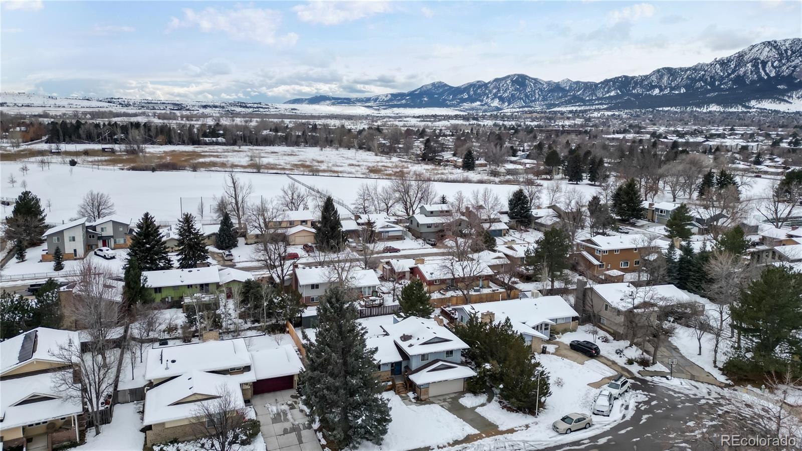
[[171, 18], [167, 31], [196, 26], [204, 33], [222, 32], [240, 41], [255, 41], [265, 45], [275, 43], [294, 44], [298, 35], [289, 33], [277, 36], [282, 23], [282, 13], [266, 8], [237, 8], [217, 10], [209, 7], [195, 11], [184, 8], [183, 18]]

